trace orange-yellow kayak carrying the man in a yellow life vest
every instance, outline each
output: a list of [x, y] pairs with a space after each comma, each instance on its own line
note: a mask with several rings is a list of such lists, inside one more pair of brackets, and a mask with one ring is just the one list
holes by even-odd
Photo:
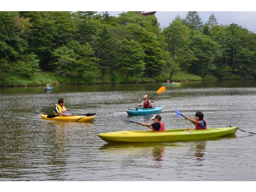
[[47, 117], [48, 115], [42, 115], [42, 119], [46, 120], [56, 120], [56, 121], [76, 121], [76, 122], [85, 122], [94, 120], [94, 116], [80, 116], [80, 115], [72, 115], [72, 116], [55, 116], [50, 115], [51, 118]]

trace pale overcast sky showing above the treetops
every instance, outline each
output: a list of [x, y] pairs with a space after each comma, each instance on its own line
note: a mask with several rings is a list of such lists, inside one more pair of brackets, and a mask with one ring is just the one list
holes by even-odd
[[[122, 11], [109, 11], [108, 13], [118, 17], [118, 14], [122, 13]], [[169, 22], [172, 22], [177, 14], [180, 14], [181, 18], [185, 18], [187, 13], [187, 11], [157, 11], [155, 16], [158, 18], [158, 22], [161, 23], [161, 26], [169, 26]], [[234, 23], [256, 33], [256, 11], [198, 11], [199, 16], [204, 23], [209, 19], [209, 16], [212, 13], [217, 18], [219, 25], [229, 25]]]

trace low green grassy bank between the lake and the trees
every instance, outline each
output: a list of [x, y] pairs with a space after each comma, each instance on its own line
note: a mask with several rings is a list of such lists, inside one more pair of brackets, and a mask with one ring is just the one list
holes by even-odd
[[[58, 84], [116, 84], [116, 83], [152, 83], [152, 82], [166, 82], [170, 78], [170, 74], [163, 74], [155, 76], [153, 78], [148, 77], [138, 77], [133, 74], [127, 74], [124, 72], [112, 72], [108, 73], [104, 77], [99, 74], [88, 74], [84, 78], [79, 78], [76, 74], [69, 74], [69, 76], [58, 76], [54, 75], [52, 72], [38, 72], [33, 78], [26, 77], [15, 77], [10, 76], [0, 82], [0, 86], [46, 86], [46, 84], [51, 84], [52, 86], [57, 86]], [[206, 80], [242, 80], [242, 76], [236, 74], [231, 74], [225, 78], [218, 78], [214, 74], [208, 74]], [[249, 79], [254, 79], [250, 76]], [[176, 73], [173, 74], [170, 80], [175, 82], [180, 81], [202, 81], [202, 77], [196, 76], [194, 74], [188, 73]]]

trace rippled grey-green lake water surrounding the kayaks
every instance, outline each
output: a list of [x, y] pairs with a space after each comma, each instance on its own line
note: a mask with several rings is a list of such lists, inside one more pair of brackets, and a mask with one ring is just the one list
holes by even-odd
[[[0, 180], [76, 181], [255, 181], [256, 135], [187, 142], [110, 144], [97, 134], [145, 130], [119, 115], [150, 123], [152, 115], [128, 116], [154, 84], [66, 85], [0, 88]], [[42, 120], [64, 98], [73, 114], [96, 113], [93, 122]], [[256, 133], [256, 81], [183, 82], [152, 98], [163, 106], [167, 129], [192, 127], [175, 108], [194, 118], [204, 113], [208, 127], [238, 126]], [[71, 110], [72, 109], [72, 110]]]

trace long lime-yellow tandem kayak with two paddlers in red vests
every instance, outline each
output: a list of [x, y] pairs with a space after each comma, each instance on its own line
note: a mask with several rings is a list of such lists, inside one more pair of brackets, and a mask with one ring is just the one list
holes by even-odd
[[164, 132], [145, 131], [118, 131], [110, 133], [100, 133], [98, 136], [106, 142], [171, 142], [179, 140], [194, 140], [220, 137], [235, 134], [237, 127], [207, 128], [205, 130], [169, 129]]

